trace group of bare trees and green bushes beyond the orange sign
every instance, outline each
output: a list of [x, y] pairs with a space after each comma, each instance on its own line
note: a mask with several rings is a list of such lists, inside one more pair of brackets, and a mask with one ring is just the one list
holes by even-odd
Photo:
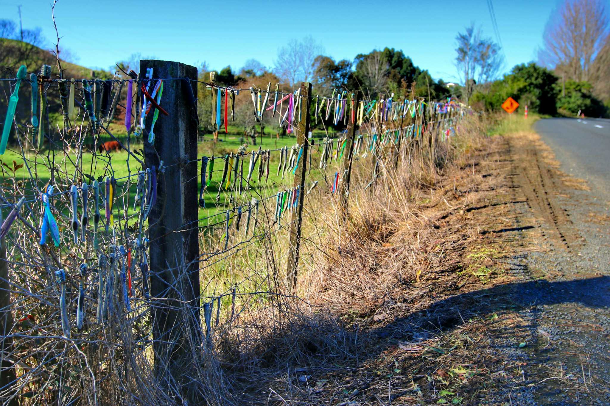
[[545, 27], [538, 63], [514, 66], [501, 79], [500, 47], [474, 24], [456, 37], [456, 93], [473, 108], [500, 110], [507, 97], [540, 114], [605, 117], [610, 112], [610, 26], [599, 0], [565, 0]]

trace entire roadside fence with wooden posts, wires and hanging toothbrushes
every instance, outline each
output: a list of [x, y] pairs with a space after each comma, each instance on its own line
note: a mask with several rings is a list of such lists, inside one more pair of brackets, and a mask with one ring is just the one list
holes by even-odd
[[[165, 72], [170, 64], [142, 61], [141, 71], [153, 66], [152, 72]], [[9, 117], [12, 166], [2, 159], [8, 155], [0, 155], [0, 399], [7, 404], [99, 404], [97, 391], [122, 399], [126, 379], [146, 377], [165, 394], [129, 390], [125, 403], [191, 396], [188, 388], [178, 389], [192, 384], [184, 368], [198, 359], [190, 358], [187, 343], [198, 342], [196, 348], [208, 354], [220, 318], [221, 326], [243, 323], [240, 328], [248, 329], [254, 325], [248, 306], [299, 299], [300, 247], [315, 235], [302, 235], [303, 222], [315, 219], [309, 198], [325, 196], [348, 221], [352, 173], [367, 179], [358, 187], [373, 189], [389, 173], [386, 159], [432, 151], [468, 113], [454, 102], [376, 100], [348, 91], [314, 96], [309, 83], [290, 93], [236, 89], [192, 79], [192, 67], [173, 64], [182, 69], [179, 77], [50, 79], [44, 67], [34, 77], [27, 74], [27, 83], [40, 89], [40, 105], [30, 92], [31, 116]], [[213, 107], [217, 117], [230, 117], [226, 109], [235, 96], [252, 98], [255, 120], [277, 109], [295, 144], [199, 154], [193, 116], [198, 84], [224, 97]], [[123, 100], [131, 104], [121, 142], [110, 125]], [[55, 126], [49, 113], [56, 114]], [[318, 143], [308, 136], [310, 119], [344, 123], [348, 130]], [[220, 130], [225, 123], [217, 122]], [[122, 161], [105, 146], [98, 153], [102, 135], [126, 150]], [[200, 217], [203, 205], [218, 211]], [[241, 279], [232, 274], [245, 264], [255, 271]], [[278, 272], [284, 266], [285, 273]], [[231, 284], [221, 285], [223, 275]], [[278, 275], [281, 283], [271, 282]], [[284, 282], [288, 293], [278, 288]]]

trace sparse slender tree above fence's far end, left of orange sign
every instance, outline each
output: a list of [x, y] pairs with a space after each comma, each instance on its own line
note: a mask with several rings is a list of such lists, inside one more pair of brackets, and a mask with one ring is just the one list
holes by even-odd
[[464, 82], [462, 97], [468, 103], [477, 83], [485, 85], [495, 79], [504, 60], [500, 55], [500, 46], [491, 38], [484, 38], [481, 29], [475, 29], [474, 23], [466, 27], [465, 32], [459, 32], [456, 41], [458, 56], [455, 64]]

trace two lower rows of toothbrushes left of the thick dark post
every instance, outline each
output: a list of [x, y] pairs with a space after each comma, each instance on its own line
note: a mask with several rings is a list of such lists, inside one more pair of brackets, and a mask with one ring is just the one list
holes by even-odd
[[[136, 201], [140, 202], [140, 214], [139, 214], [139, 226], [137, 236], [134, 236], [133, 239], [129, 240], [127, 244], [127, 248], [124, 246], [118, 247], [116, 244], [116, 234], [115, 227], [113, 222], [112, 208], [113, 201], [116, 196], [116, 182], [113, 181], [113, 178], [106, 177], [103, 183], [98, 183], [98, 181], [93, 181], [91, 185], [87, 183], [83, 183], [81, 187], [77, 187], [73, 185], [70, 187], [69, 191], [69, 200], [70, 200], [70, 209], [71, 209], [71, 219], [70, 219], [70, 229], [73, 234], [73, 242], [74, 247], [79, 247], [79, 244], [87, 245], [88, 242], [88, 234], [91, 232], [88, 229], [89, 223], [89, 215], [90, 206], [88, 202], [90, 201], [90, 195], [92, 194], [93, 201], [93, 247], [96, 251], [102, 252], [100, 247], [100, 239], [98, 233], [98, 226], [101, 220], [101, 215], [99, 212], [99, 206], [101, 203], [101, 195], [103, 194], [103, 205], [105, 209], [105, 217], [106, 217], [106, 234], [112, 229], [112, 241], [113, 244], [110, 245], [112, 249], [112, 253], [109, 256], [106, 254], [100, 254], [99, 256], [99, 266], [97, 268], [99, 272], [99, 303], [105, 303], [104, 310], [102, 312], [102, 305], [98, 304], [98, 321], [102, 317], [100, 314], [106, 315], [113, 312], [112, 309], [115, 309], [114, 302], [117, 300], [119, 296], [122, 295], [121, 303], [124, 303], [124, 309], [127, 311], [131, 311], [131, 306], [129, 304], [129, 296], [134, 295], [134, 290], [132, 286], [132, 273], [134, 271], [134, 264], [137, 262], [138, 267], [142, 273], [141, 284], [142, 284], [142, 292], [143, 296], [146, 298], [149, 297], [149, 289], [148, 289], [148, 261], [146, 260], [146, 241], [147, 239], [143, 236], [143, 225], [148, 219], [148, 215], [151, 211], [152, 206], [156, 203], [156, 170], [154, 167], [152, 169], [146, 169], [138, 173], [138, 184], [137, 184], [137, 192], [136, 192]], [[51, 240], [55, 247], [60, 247], [61, 244], [61, 236], [59, 227], [57, 225], [56, 218], [51, 209], [51, 197], [56, 195], [53, 193], [54, 187], [52, 185], [48, 185], [45, 188], [45, 191], [41, 194], [41, 203], [43, 205], [43, 211], [41, 214], [41, 223], [40, 223], [40, 245], [47, 245], [48, 235], [51, 234]], [[80, 197], [80, 205], [79, 205], [79, 197]], [[15, 222], [15, 219], [19, 217], [19, 211], [25, 198], [21, 198], [19, 203], [13, 206], [12, 211], [9, 213], [7, 218], [2, 222], [0, 226], [0, 239], [4, 238], [9, 230]], [[81, 216], [79, 218], [78, 211], [79, 207], [81, 208]], [[79, 221], [80, 220], [80, 221]], [[135, 251], [135, 258], [132, 261], [132, 249]], [[60, 251], [61, 252], [61, 251]], [[138, 261], [139, 259], [139, 261]], [[102, 265], [114, 267], [115, 265], [120, 264], [120, 278], [114, 278], [113, 273], [109, 268], [106, 268], [104, 271]], [[81, 264], [79, 268], [80, 272], [80, 282], [79, 282], [79, 295], [78, 295], [78, 303], [77, 303], [77, 316], [76, 316], [76, 326], [78, 329], [82, 328], [82, 323], [84, 320], [84, 282], [87, 276], [87, 270], [90, 267], [86, 262]], [[104, 273], [105, 272], [105, 273]], [[115, 286], [114, 281], [120, 281], [121, 284], [121, 295], [117, 295], [115, 292], [118, 292]], [[60, 284], [59, 287], [59, 301], [60, 301], [60, 317], [62, 329], [65, 337], [70, 337], [70, 322], [68, 321], [69, 312], [66, 310], [66, 271], [63, 268], [60, 268], [56, 271], [56, 281]], [[117, 282], [118, 283], [118, 282]], [[101, 299], [105, 298], [105, 299]], [[104, 316], [106, 317], [106, 316]]]

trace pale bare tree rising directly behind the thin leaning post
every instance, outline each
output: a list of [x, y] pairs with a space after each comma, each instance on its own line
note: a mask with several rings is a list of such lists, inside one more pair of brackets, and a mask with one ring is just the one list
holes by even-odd
[[287, 46], [278, 51], [275, 61], [275, 74], [290, 86], [303, 80], [312, 80], [315, 73], [315, 58], [324, 52], [324, 48], [313, 37], [302, 41], [290, 40]]

